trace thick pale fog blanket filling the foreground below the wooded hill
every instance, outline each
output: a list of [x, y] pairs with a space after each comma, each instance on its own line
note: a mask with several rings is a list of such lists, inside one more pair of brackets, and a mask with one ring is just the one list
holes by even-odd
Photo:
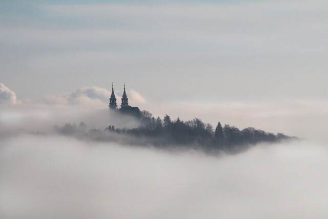
[[1, 218], [326, 218], [328, 151], [238, 155], [22, 134], [1, 141]]

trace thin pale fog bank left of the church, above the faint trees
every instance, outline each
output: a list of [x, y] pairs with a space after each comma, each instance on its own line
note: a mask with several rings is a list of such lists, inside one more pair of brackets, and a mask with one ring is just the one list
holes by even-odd
[[104, 130], [109, 125], [133, 128], [138, 126], [131, 116], [121, 117], [109, 113], [103, 108], [85, 108], [85, 106], [49, 106], [24, 104], [17, 106], [0, 106], [0, 138], [19, 133], [50, 133], [55, 125], [66, 123], [87, 124], [88, 129]]

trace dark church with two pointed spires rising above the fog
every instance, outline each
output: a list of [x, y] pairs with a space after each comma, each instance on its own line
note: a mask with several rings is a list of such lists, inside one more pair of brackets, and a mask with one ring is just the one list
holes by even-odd
[[125, 84], [124, 84], [124, 92], [121, 98], [121, 107], [119, 109], [117, 109], [117, 104], [116, 104], [116, 97], [115, 97], [115, 93], [114, 93], [114, 85], [112, 84], [112, 94], [111, 97], [109, 98], [109, 110], [110, 111], [118, 111], [122, 114], [125, 115], [132, 115], [136, 118], [142, 118], [142, 113], [139, 109], [139, 107], [131, 107], [129, 106], [128, 103], [128, 95], [127, 92], [125, 90]]

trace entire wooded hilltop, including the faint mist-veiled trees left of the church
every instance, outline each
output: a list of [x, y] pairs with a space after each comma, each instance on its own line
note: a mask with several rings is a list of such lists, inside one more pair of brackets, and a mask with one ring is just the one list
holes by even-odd
[[138, 128], [120, 129], [108, 126], [105, 131], [99, 129], [87, 130], [83, 122], [77, 127], [75, 124], [65, 124], [64, 127], [54, 127], [57, 133], [74, 135], [93, 141], [111, 141], [131, 145], [153, 145], [160, 148], [197, 148], [204, 151], [224, 151], [237, 153], [261, 142], [274, 143], [281, 140], [294, 139], [281, 133], [273, 134], [254, 128], [239, 130], [228, 124], [222, 127], [219, 122], [213, 130], [212, 125], [203, 123], [199, 118], [183, 122], [178, 117], [171, 121], [169, 115], [163, 120], [153, 117], [148, 111], [144, 115]]

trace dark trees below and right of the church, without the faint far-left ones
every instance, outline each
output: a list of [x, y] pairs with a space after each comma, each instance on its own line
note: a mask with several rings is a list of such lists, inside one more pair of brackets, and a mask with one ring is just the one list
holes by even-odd
[[281, 133], [273, 134], [254, 128], [239, 130], [228, 124], [222, 126], [220, 122], [213, 129], [211, 124], [205, 124], [199, 118], [184, 122], [178, 117], [175, 121], [171, 121], [169, 115], [165, 115], [161, 120], [160, 117], [153, 117], [148, 111], [142, 111], [142, 113], [144, 117], [138, 128], [118, 129], [109, 126], [106, 130], [142, 138], [146, 143], [157, 147], [193, 146], [232, 153], [260, 142], [274, 143], [292, 138]]

